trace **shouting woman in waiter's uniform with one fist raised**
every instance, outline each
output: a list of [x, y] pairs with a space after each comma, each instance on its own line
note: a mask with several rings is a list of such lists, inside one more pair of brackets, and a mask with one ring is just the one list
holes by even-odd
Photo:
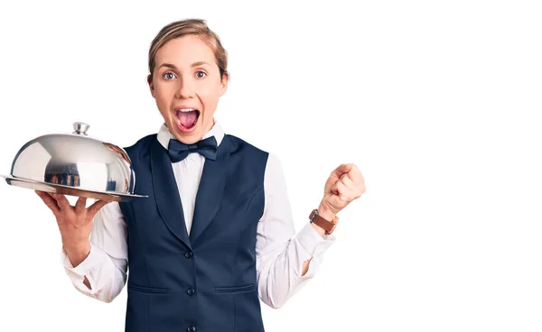
[[294, 234], [276, 156], [214, 119], [227, 62], [201, 20], [168, 24], [152, 42], [147, 81], [164, 124], [126, 148], [135, 192], [148, 198], [86, 208], [38, 192], [79, 291], [115, 299], [129, 263], [126, 331], [263, 331], [259, 299], [279, 308], [313, 277], [336, 214], [365, 190], [360, 171], [341, 165]]

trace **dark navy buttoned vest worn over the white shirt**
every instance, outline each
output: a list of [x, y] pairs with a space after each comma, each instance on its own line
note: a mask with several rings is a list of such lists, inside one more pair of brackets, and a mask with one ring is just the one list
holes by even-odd
[[264, 331], [257, 295], [257, 223], [267, 152], [226, 134], [206, 160], [191, 235], [172, 163], [156, 134], [126, 148], [135, 192], [128, 230], [127, 332]]

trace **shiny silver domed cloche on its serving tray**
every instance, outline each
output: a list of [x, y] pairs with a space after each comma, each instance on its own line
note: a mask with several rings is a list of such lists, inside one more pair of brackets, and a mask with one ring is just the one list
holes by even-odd
[[89, 124], [72, 134], [46, 134], [23, 145], [5, 181], [17, 187], [70, 196], [127, 201], [135, 195], [135, 173], [126, 152], [89, 137]]

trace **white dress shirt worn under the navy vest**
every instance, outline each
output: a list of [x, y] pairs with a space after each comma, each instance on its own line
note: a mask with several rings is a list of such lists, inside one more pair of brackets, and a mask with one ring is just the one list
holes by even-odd
[[[213, 135], [220, 144], [224, 132], [219, 123], [215, 123], [203, 139]], [[157, 139], [167, 149], [169, 140], [175, 138], [163, 124]], [[191, 153], [184, 160], [172, 163], [189, 235], [204, 162], [201, 154]], [[322, 263], [322, 254], [335, 241], [335, 237], [324, 235], [322, 238], [308, 219], [306, 225], [295, 234], [284, 172], [272, 153], [269, 153], [266, 163], [264, 190], [264, 213], [257, 226], [257, 291], [260, 300], [277, 309], [313, 278]], [[90, 254], [82, 263], [73, 267], [66, 252], [61, 250], [61, 262], [78, 291], [105, 302], [117, 297], [126, 284], [126, 236], [122, 211], [117, 202], [111, 202], [94, 217]], [[304, 262], [311, 258], [308, 272], [302, 275]], [[85, 276], [90, 289], [83, 283]]]

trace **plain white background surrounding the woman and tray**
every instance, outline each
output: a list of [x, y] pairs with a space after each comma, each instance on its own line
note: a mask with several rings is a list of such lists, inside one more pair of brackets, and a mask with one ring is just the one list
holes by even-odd
[[[75, 121], [120, 146], [155, 133], [148, 46], [204, 18], [229, 51], [217, 118], [278, 155], [296, 229], [341, 162], [366, 178], [310, 284], [264, 305], [269, 331], [540, 331], [536, 3], [3, 2], [0, 173]], [[60, 250], [40, 198], [0, 185], [0, 330], [123, 330], [126, 290], [81, 295]]]

